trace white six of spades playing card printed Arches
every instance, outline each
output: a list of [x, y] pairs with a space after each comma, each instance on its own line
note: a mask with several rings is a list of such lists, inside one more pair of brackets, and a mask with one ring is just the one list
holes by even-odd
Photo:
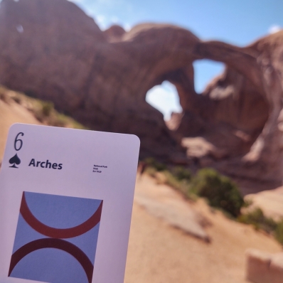
[[124, 282], [139, 139], [14, 124], [0, 173], [0, 283]]

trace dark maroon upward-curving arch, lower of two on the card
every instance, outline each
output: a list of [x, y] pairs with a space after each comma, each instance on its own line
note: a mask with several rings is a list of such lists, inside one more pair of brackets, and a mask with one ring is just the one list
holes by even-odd
[[73, 257], [75, 257], [75, 259], [80, 262], [80, 265], [85, 270], [88, 282], [92, 282], [93, 265], [87, 255], [85, 255], [85, 252], [82, 252], [82, 250], [80, 250], [77, 246], [73, 245], [70, 242], [61, 239], [50, 238], [28, 242], [26, 245], [23, 245], [23, 247], [20, 247], [18, 250], [16, 250], [16, 252], [14, 252], [11, 257], [11, 264], [8, 276], [11, 275], [11, 272], [13, 271], [14, 267], [16, 267], [18, 262], [22, 260], [23, 257], [26, 257], [26, 255], [30, 254], [31, 252], [48, 247], [63, 250], [65, 252], [68, 252], [68, 254], [73, 255]]

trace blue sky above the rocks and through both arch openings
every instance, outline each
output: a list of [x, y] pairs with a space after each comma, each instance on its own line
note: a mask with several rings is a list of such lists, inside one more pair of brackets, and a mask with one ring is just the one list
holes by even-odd
[[[128, 30], [137, 23], [173, 23], [188, 28], [203, 40], [220, 40], [237, 46], [245, 46], [283, 27], [282, 0], [70, 1], [95, 18], [102, 29], [112, 24]], [[194, 68], [196, 91], [201, 92], [205, 84], [223, 70], [223, 65], [203, 60], [196, 62]], [[147, 101], [157, 103], [168, 118], [170, 105], [173, 110], [179, 107], [177, 96], [174, 87], [165, 84], [155, 87]], [[162, 105], [166, 105], [166, 110]]]

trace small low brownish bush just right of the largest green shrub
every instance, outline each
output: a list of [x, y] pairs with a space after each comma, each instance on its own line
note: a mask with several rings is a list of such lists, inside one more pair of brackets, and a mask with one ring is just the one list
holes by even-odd
[[[260, 208], [255, 208], [254, 210], [240, 215], [237, 220], [240, 223], [251, 224], [255, 229], [265, 230], [267, 233], [272, 233], [272, 231], [277, 229], [277, 223], [272, 219], [265, 216]], [[282, 225], [282, 237], [283, 237], [283, 225]], [[282, 239], [283, 240], [283, 239]]]

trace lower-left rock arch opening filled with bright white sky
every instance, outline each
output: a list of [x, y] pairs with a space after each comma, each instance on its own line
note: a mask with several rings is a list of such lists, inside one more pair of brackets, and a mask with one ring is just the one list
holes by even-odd
[[164, 115], [164, 120], [169, 121], [172, 113], [183, 111], [176, 86], [168, 80], [161, 85], [155, 85], [146, 93], [146, 102]]

